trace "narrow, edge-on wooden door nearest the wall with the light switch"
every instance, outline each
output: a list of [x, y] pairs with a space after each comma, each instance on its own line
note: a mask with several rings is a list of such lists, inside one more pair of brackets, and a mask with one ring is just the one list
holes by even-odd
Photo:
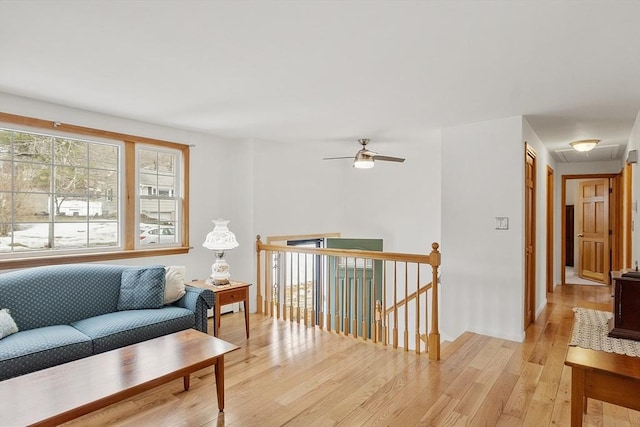
[[525, 162], [524, 328], [535, 320], [536, 307], [536, 153], [527, 146]]

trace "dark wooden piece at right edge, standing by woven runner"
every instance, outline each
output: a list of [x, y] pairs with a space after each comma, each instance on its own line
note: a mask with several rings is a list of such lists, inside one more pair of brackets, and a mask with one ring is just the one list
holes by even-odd
[[640, 341], [640, 277], [614, 273], [613, 319], [609, 336]]

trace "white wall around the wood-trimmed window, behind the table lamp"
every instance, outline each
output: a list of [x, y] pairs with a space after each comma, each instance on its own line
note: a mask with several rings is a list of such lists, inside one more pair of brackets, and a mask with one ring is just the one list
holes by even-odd
[[251, 229], [251, 155], [247, 143], [229, 141], [185, 130], [138, 122], [115, 116], [49, 104], [0, 93], [0, 110], [7, 113], [56, 120], [131, 135], [195, 144], [191, 149], [189, 254], [111, 261], [111, 264], [185, 265], [188, 279], [209, 276], [213, 254], [202, 247], [213, 228], [211, 220], [225, 217], [240, 247], [228, 254], [231, 272], [240, 280], [253, 280], [255, 253]]

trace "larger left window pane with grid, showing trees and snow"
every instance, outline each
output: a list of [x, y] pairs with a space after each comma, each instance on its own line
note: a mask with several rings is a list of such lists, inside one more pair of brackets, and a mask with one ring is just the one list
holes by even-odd
[[0, 129], [0, 253], [119, 246], [121, 148]]

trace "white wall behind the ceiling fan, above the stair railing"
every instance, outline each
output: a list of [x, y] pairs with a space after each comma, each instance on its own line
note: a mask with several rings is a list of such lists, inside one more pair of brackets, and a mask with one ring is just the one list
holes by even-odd
[[254, 224], [258, 234], [340, 232], [342, 237], [382, 238], [387, 251], [428, 253], [440, 240], [440, 133], [422, 141], [371, 142], [403, 164], [376, 162], [355, 169], [359, 145], [327, 142], [300, 146], [254, 145]]

